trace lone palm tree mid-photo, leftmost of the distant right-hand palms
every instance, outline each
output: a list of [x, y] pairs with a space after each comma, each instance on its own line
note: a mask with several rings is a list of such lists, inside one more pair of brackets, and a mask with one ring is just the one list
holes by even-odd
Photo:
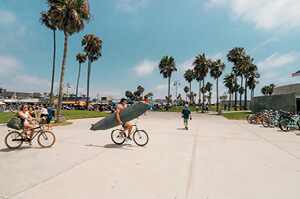
[[168, 96], [167, 96], [167, 110], [170, 103], [170, 82], [171, 82], [171, 76], [174, 71], [177, 71], [177, 68], [175, 66], [175, 60], [171, 56], [170, 58], [168, 55], [164, 56], [158, 65], [159, 73], [163, 75], [164, 78], [168, 78]]

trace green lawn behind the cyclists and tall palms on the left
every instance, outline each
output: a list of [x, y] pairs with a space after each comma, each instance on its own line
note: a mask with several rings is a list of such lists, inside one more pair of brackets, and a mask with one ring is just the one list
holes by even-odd
[[[12, 118], [14, 115], [16, 115], [17, 112], [14, 114], [5, 112], [0, 113], [0, 123], [7, 123], [10, 118]], [[38, 112], [37, 112], [38, 114]], [[57, 114], [57, 111], [56, 111]], [[98, 112], [98, 111], [70, 111], [70, 110], [62, 110], [61, 116], [66, 117], [67, 120], [71, 119], [81, 119], [81, 118], [93, 118], [93, 117], [106, 117], [110, 115], [110, 112]]]

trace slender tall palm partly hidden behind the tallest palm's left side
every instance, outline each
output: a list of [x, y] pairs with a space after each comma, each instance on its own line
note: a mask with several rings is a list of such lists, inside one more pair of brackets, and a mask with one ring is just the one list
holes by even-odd
[[44, 24], [47, 28], [53, 31], [53, 68], [52, 68], [52, 80], [51, 80], [51, 91], [50, 91], [50, 107], [52, 107], [53, 101], [53, 89], [54, 89], [54, 75], [55, 75], [55, 54], [56, 54], [56, 25], [54, 24], [53, 20], [51, 20], [49, 12], [42, 11], [40, 21]]

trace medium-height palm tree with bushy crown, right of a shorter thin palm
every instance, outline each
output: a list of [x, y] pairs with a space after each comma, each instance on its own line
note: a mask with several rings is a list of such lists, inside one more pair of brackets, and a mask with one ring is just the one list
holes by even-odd
[[87, 78], [87, 110], [89, 109], [89, 95], [90, 95], [90, 76], [92, 63], [97, 61], [102, 56], [102, 40], [94, 34], [87, 34], [81, 40], [81, 46], [84, 46], [83, 51], [89, 59], [88, 62], [88, 78]]

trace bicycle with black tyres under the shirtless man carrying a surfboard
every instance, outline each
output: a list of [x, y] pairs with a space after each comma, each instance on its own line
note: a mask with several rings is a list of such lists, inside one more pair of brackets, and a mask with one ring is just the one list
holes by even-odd
[[[132, 130], [132, 137], [133, 141], [138, 145], [138, 146], [145, 146], [148, 141], [149, 141], [149, 136], [144, 130], [139, 130], [137, 125], [132, 125], [135, 127], [134, 130]], [[111, 132], [111, 139], [116, 145], [121, 145], [125, 142], [125, 137], [126, 134], [124, 133], [124, 136], [121, 135], [121, 132], [123, 131], [123, 127], [121, 129], [115, 129]]]

